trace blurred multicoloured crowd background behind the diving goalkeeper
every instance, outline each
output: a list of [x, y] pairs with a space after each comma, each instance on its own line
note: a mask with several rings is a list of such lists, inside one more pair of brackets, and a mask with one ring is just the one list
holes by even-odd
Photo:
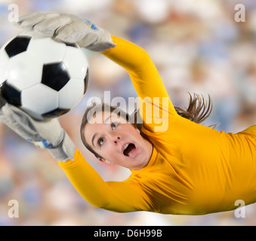
[[[20, 15], [35, 11], [78, 14], [113, 35], [143, 47], [152, 57], [176, 106], [188, 92], [211, 95], [213, 112], [205, 125], [239, 132], [256, 124], [256, 2], [254, 0], [0, 0], [0, 46], [20, 29], [10, 23], [11, 4]], [[237, 22], [237, 4], [245, 22]], [[91, 78], [82, 102], [60, 123], [104, 180], [122, 181], [129, 172], [97, 161], [82, 146], [79, 127], [92, 96], [136, 96], [127, 72], [100, 53], [85, 51]], [[88, 186], [90, 188], [90, 186]], [[9, 218], [9, 200], [19, 218]], [[48, 151], [36, 149], [0, 123], [0, 225], [255, 225], [256, 204], [210, 215], [115, 213], [96, 209], [69, 183]]]

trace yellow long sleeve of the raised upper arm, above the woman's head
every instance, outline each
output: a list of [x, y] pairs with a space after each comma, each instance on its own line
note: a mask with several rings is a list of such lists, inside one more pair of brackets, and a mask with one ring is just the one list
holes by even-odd
[[162, 78], [148, 53], [136, 44], [113, 36], [116, 47], [103, 55], [122, 66], [130, 75], [139, 97], [145, 132], [164, 132], [178, 114], [171, 103]]

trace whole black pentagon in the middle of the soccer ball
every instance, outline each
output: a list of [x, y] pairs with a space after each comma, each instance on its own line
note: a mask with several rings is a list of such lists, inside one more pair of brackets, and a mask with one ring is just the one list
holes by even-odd
[[42, 84], [54, 90], [61, 90], [69, 79], [70, 77], [67, 73], [66, 66], [62, 62], [43, 66]]

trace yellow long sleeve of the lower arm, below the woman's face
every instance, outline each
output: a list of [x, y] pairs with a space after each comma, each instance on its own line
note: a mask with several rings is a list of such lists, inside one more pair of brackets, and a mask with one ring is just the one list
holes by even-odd
[[148, 209], [147, 197], [135, 183], [104, 182], [79, 150], [76, 150], [74, 159], [59, 164], [73, 187], [88, 203], [115, 212]]

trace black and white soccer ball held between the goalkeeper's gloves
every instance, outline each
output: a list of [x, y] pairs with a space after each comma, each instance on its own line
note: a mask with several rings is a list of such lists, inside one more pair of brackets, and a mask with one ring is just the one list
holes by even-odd
[[88, 86], [88, 59], [77, 44], [21, 32], [0, 50], [0, 90], [37, 120], [74, 108]]

